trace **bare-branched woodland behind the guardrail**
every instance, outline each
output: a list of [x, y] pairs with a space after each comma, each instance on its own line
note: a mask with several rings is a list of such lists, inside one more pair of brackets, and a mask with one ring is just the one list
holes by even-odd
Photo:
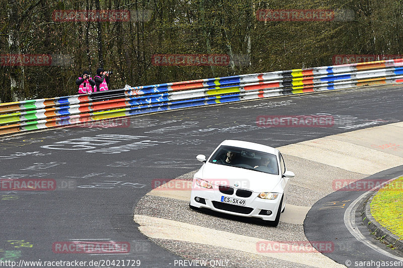
[[[0, 54], [51, 66], [0, 66], [0, 102], [74, 95], [84, 70], [109, 88], [332, 64], [338, 54], [402, 54], [403, 0], [6, 0]], [[334, 10], [332, 21], [259, 21], [256, 11]], [[127, 22], [66, 22], [57, 10], [128, 10]], [[135, 16], [133, 16], [135, 14]], [[136, 16], [138, 14], [138, 16]], [[156, 66], [154, 54], [227, 54], [227, 66]]]

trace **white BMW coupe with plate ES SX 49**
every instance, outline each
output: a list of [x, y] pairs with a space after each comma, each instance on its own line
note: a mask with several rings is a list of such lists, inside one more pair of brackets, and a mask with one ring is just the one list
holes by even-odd
[[289, 179], [276, 148], [238, 140], [223, 141], [194, 174], [189, 206], [256, 217], [277, 226], [285, 210]]

